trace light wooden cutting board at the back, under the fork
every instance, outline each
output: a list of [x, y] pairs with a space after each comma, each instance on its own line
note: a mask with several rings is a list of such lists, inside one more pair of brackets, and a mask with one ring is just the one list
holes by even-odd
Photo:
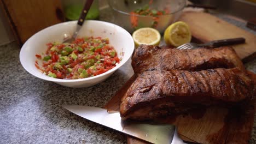
[[211, 40], [243, 37], [246, 39], [246, 44], [233, 46], [238, 56], [244, 62], [256, 57], [256, 35], [253, 33], [207, 13], [188, 11], [182, 14], [179, 21], [188, 23], [193, 37], [204, 43]]

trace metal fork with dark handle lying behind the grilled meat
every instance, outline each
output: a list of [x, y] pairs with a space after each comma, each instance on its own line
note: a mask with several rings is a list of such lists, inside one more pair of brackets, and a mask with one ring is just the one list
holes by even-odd
[[200, 47], [214, 48], [214, 47], [235, 45], [235, 44], [244, 44], [244, 43], [245, 43], [245, 38], [222, 39], [222, 40], [210, 41], [209, 43], [205, 43], [205, 44], [187, 43], [187, 44], [183, 44], [183, 45], [177, 47], [177, 49], [189, 50], [189, 49], [196, 49], [196, 48], [200, 48]]

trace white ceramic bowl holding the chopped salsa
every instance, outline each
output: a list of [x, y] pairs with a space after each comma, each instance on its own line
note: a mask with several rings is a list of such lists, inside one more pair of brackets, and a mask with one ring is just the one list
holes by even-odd
[[[53, 81], [66, 87], [89, 87], [106, 80], [115, 70], [120, 68], [131, 57], [134, 50], [133, 39], [125, 29], [113, 23], [87, 20], [78, 33], [79, 37], [102, 37], [109, 38], [109, 44], [114, 46], [118, 57], [122, 58], [119, 64], [106, 73], [77, 80], [62, 80], [42, 74], [34, 65], [36, 54], [46, 51], [46, 43], [59, 41], [62, 42], [65, 34], [72, 35], [75, 31], [77, 21], [63, 22], [43, 29], [34, 34], [22, 46], [20, 51], [20, 62], [28, 73], [46, 81]], [[123, 54], [122, 54], [123, 53]]]

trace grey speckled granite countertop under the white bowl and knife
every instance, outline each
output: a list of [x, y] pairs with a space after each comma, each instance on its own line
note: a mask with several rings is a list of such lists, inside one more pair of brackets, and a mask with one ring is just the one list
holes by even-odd
[[[243, 22], [219, 17], [249, 31]], [[19, 51], [15, 42], [0, 46], [0, 143], [126, 143], [124, 134], [61, 106], [103, 107], [133, 74], [131, 61], [98, 85], [67, 88], [27, 73], [19, 62]], [[256, 73], [256, 59], [246, 68]], [[250, 143], [256, 142], [255, 130], [256, 119]]]

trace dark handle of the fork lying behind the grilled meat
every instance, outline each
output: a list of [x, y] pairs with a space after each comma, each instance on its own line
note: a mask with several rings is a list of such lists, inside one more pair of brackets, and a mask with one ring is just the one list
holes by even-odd
[[245, 38], [223, 39], [211, 41], [211, 47], [220, 47], [235, 44], [244, 44]]

